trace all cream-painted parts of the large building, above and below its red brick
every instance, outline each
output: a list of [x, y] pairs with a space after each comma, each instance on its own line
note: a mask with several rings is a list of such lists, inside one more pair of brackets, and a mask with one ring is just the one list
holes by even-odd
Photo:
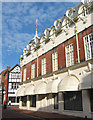
[[[82, 6], [86, 5], [82, 4], [80, 7]], [[78, 20], [75, 23], [77, 26], [77, 34], [93, 25], [93, 3], [91, 3], [90, 6], [92, 6], [92, 8], [90, 7], [91, 12], [89, 14], [82, 17], [79, 13], [80, 15], [77, 17]], [[34, 52], [34, 49], [31, 47], [31, 54], [28, 57], [26, 57], [26, 52], [24, 52], [22, 56], [23, 60], [20, 60], [21, 66], [23, 67], [32, 60], [42, 56], [42, 54], [48, 52], [53, 47], [62, 44], [64, 41], [74, 36], [76, 34], [74, 32], [75, 25], [73, 23], [73, 25], [70, 25], [66, 30], [64, 30], [64, 27], [61, 27], [61, 34], [56, 37], [54, 32], [53, 35], [50, 35], [50, 41], [47, 44], [41, 42], [37, 52]], [[41, 40], [42, 39], [43, 38], [41, 38]], [[24, 81], [20, 84], [16, 95], [20, 97], [20, 109], [56, 112], [65, 115], [93, 118], [93, 111], [91, 110], [92, 103], [89, 96], [90, 90], [93, 90], [93, 58], [50, 74], [37, 76], [31, 80]], [[79, 108], [78, 110], [67, 110], [68, 106], [66, 106], [66, 98], [64, 96], [66, 92], [76, 92], [76, 94], [80, 92], [81, 99], [79, 100], [82, 104], [80, 110]], [[25, 96], [24, 99], [27, 101], [25, 102], [25, 106], [22, 103], [23, 96]], [[34, 96], [34, 99], [36, 99], [35, 106], [33, 107], [30, 107], [30, 104], [32, 104], [30, 96]], [[73, 101], [76, 97], [77, 96], [73, 95], [73, 98], [70, 100]], [[56, 106], [54, 106], [55, 104]]]

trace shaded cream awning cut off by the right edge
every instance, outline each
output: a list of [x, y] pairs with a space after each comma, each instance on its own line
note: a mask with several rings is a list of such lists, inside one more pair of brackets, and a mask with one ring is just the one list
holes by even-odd
[[91, 89], [91, 88], [93, 88], [93, 72], [85, 73], [82, 76], [79, 88], [80, 89]]

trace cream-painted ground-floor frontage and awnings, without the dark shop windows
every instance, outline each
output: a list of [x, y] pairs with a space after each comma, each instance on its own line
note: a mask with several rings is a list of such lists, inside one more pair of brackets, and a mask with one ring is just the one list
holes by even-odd
[[[89, 64], [91, 64], [92, 71], [89, 69]], [[88, 80], [90, 80], [88, 83], [85, 78], [86, 75], [89, 75], [90, 77], [88, 78]], [[75, 82], [77, 84], [73, 83], [73, 80], [71, 80], [71, 76], [76, 78]], [[59, 86], [62, 81], [64, 82], [63, 83], [64, 85], [67, 84], [67, 81], [65, 80], [66, 77], [68, 78], [70, 77], [70, 79], [68, 80], [68, 86], [67, 86], [68, 89], [65, 86], [63, 86], [64, 90], [59, 91]], [[51, 84], [51, 81], [55, 82], [55, 84], [53, 83]], [[85, 62], [83, 66], [81, 63], [79, 65], [70, 67], [69, 69], [66, 68], [63, 71], [56, 72], [55, 74], [52, 74], [49, 77], [46, 76], [45, 78], [33, 80], [30, 83], [26, 83], [26, 84], [24, 83], [23, 84], [24, 89], [22, 88], [23, 94], [21, 93], [23, 96], [27, 95], [25, 94], [25, 91], [27, 91], [27, 87], [29, 86], [29, 84], [34, 86], [34, 89], [33, 89], [34, 93], [32, 95], [36, 94], [36, 107], [30, 107], [30, 101], [27, 100], [26, 107], [23, 107], [22, 101], [20, 101], [20, 106], [19, 106], [20, 109], [28, 109], [28, 110], [35, 110], [35, 111], [39, 110], [39, 111], [45, 111], [45, 112], [56, 112], [60, 114], [73, 115], [73, 116], [79, 116], [79, 117], [87, 116], [88, 118], [93, 117], [93, 113], [90, 110], [90, 100], [88, 96], [88, 88], [91, 88], [93, 86], [93, 60]], [[49, 84], [51, 84], [51, 88]], [[88, 86], [87, 89], [83, 88], [82, 84], [85, 84], [85, 86]], [[31, 90], [31, 85], [28, 88], [29, 91]], [[70, 89], [71, 91], [73, 89], [75, 91], [82, 90], [83, 111], [64, 110], [64, 100], [63, 100], [62, 92], [70, 91]], [[53, 93], [58, 93], [59, 109], [54, 109], [54, 98], [52, 97]]]

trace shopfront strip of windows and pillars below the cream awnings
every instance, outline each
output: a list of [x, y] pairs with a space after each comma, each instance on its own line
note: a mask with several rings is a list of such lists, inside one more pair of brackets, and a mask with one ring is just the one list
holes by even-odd
[[93, 89], [20, 97], [20, 109], [93, 117]]

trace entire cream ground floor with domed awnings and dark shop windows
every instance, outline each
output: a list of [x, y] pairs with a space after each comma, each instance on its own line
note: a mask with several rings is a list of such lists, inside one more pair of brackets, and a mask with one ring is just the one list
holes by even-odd
[[22, 84], [19, 108], [93, 118], [93, 64]]

